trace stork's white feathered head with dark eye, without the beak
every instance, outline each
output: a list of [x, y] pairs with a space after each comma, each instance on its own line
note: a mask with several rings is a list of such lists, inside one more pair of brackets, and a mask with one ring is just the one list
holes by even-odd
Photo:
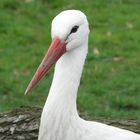
[[67, 51], [81, 46], [88, 33], [87, 18], [81, 11], [63, 11], [52, 21], [52, 39], [58, 37], [62, 42], [66, 43]]

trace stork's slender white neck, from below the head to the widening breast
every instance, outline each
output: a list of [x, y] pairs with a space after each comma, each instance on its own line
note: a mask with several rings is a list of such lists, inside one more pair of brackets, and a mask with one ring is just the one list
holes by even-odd
[[[46, 104], [76, 107], [77, 90], [87, 54], [87, 44], [64, 54], [57, 62]], [[67, 108], [67, 109], [68, 109]]]

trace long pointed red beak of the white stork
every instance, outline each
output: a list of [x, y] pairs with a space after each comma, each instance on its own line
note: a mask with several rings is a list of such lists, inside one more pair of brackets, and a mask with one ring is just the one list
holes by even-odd
[[40, 66], [38, 67], [36, 73], [34, 74], [32, 80], [30, 81], [25, 95], [27, 95], [32, 88], [37, 85], [37, 83], [47, 74], [51, 66], [66, 52], [66, 44], [61, 42], [58, 37], [55, 37], [45, 54]]

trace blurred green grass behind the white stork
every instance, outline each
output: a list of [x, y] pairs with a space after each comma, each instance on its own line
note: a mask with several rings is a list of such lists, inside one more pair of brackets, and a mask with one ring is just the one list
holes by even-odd
[[83, 11], [91, 31], [78, 110], [140, 119], [139, 0], [0, 0], [0, 111], [44, 105], [53, 70], [24, 91], [51, 42], [53, 17], [66, 9]]

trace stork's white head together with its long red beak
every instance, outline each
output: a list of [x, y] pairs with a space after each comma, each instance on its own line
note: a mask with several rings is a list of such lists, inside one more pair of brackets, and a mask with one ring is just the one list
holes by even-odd
[[52, 21], [52, 43], [29, 83], [27, 94], [51, 66], [64, 54], [81, 47], [89, 34], [88, 21], [84, 13], [78, 10], [67, 10], [58, 14]]

